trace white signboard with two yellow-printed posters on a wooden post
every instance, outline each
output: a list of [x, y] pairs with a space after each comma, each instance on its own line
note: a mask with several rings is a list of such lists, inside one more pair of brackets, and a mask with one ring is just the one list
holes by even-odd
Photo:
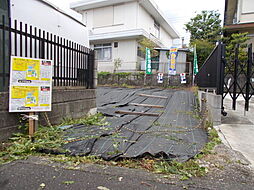
[[53, 62], [11, 57], [9, 112], [51, 111]]

